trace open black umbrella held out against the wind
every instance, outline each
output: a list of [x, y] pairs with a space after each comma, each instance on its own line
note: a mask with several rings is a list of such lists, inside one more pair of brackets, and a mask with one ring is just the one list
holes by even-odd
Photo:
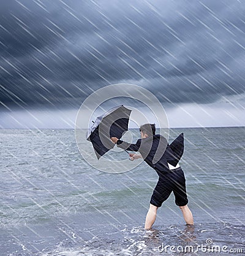
[[92, 142], [98, 160], [115, 146], [110, 138], [120, 139], [123, 133], [128, 130], [130, 113], [130, 109], [121, 105], [113, 107], [93, 122], [86, 139]]

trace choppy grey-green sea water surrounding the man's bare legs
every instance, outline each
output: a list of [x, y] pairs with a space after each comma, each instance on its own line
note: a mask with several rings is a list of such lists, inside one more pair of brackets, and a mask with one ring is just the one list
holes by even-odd
[[0, 255], [244, 255], [245, 128], [176, 128], [169, 141], [181, 132], [195, 225], [171, 195], [145, 231], [157, 174], [144, 162], [105, 173], [74, 130], [0, 130]]

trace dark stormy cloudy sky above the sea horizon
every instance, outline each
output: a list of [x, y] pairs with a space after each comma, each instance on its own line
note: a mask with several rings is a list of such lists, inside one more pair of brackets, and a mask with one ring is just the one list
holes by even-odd
[[189, 111], [186, 126], [198, 107], [222, 118], [210, 125], [245, 125], [244, 13], [235, 0], [1, 1], [1, 126], [44, 127], [113, 83], [148, 89], [173, 120]]

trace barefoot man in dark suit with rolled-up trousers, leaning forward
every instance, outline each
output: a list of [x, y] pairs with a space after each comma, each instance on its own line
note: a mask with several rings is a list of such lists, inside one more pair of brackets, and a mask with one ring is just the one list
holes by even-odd
[[186, 223], [194, 224], [192, 212], [187, 206], [186, 179], [179, 164], [176, 166], [170, 165], [170, 163], [176, 161], [176, 158], [174, 157], [175, 153], [168, 145], [167, 139], [160, 134], [156, 134], [155, 124], [146, 123], [140, 126], [140, 133], [141, 139], [138, 139], [136, 144], [121, 141], [116, 137], [112, 137], [111, 141], [121, 149], [140, 152], [140, 155], [130, 153], [130, 159], [143, 158], [149, 166], [156, 170], [159, 176], [151, 196], [145, 229], [152, 227], [156, 220], [157, 209], [167, 200], [171, 192], [175, 195], [175, 204], [181, 209]]

